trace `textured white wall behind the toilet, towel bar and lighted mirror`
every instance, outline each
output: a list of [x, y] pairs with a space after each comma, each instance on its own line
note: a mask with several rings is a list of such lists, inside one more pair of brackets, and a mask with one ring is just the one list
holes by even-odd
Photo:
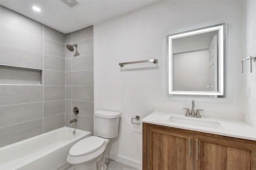
[[[192, 98], [166, 97], [166, 35], [227, 21], [228, 98], [195, 98], [205, 110], [242, 112], [241, 1], [161, 1], [94, 25], [94, 108], [122, 113], [110, 154], [142, 162], [142, 125], [155, 105], [191, 107]], [[158, 64], [118, 63], [158, 59]], [[184, 112], [185, 113], [185, 112]]]

